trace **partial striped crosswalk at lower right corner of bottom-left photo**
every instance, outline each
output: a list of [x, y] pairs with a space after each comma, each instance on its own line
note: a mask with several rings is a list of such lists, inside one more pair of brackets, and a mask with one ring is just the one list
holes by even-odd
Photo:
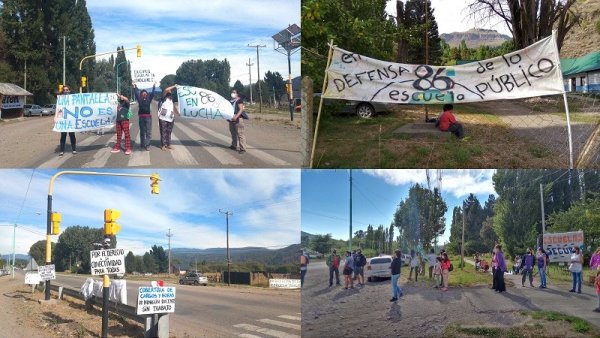
[[238, 334], [238, 337], [299, 338], [301, 331], [300, 314], [280, 315], [276, 318], [262, 318], [252, 323], [235, 324], [233, 327], [243, 330]]

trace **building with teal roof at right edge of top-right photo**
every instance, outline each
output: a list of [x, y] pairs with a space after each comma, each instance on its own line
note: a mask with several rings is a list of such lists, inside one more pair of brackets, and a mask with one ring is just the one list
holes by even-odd
[[600, 50], [560, 64], [567, 92], [600, 92]]

